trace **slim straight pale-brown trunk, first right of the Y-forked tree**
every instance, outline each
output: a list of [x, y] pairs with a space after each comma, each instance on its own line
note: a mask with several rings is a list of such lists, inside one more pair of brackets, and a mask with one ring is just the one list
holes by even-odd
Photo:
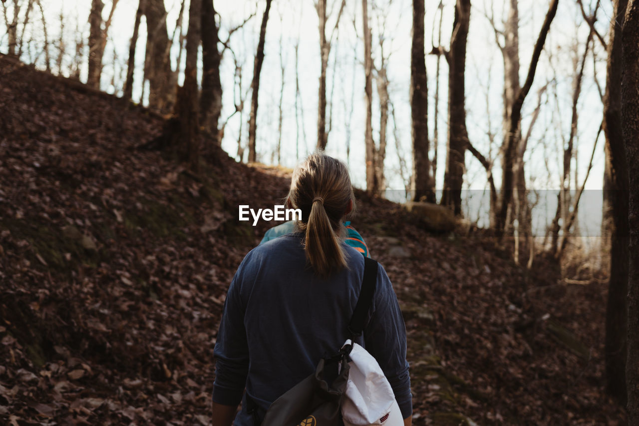
[[362, 0], [362, 27], [364, 28], [364, 95], [366, 97], [366, 191], [378, 191], [377, 176], [375, 174], [375, 143], [373, 142], [373, 58], [371, 58], [371, 44], [373, 34], [368, 25], [368, 1]]

